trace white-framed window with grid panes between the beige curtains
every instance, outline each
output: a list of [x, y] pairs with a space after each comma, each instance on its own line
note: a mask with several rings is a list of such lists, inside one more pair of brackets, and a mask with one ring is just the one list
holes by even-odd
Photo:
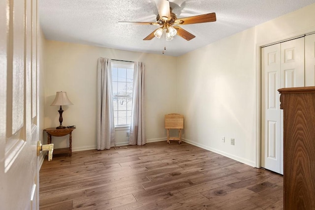
[[112, 60], [113, 105], [115, 127], [131, 122], [133, 62]]

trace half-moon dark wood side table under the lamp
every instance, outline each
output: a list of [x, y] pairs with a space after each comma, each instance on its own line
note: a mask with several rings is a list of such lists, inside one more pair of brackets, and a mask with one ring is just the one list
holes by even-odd
[[55, 127], [45, 128], [44, 131], [48, 134], [48, 140], [47, 144], [51, 144], [51, 136], [65, 136], [69, 134], [69, 147], [68, 148], [60, 148], [55, 149], [53, 151], [53, 154], [61, 154], [61, 153], [69, 153], [69, 156], [71, 156], [72, 149], [72, 131], [74, 128], [64, 128], [64, 129], [56, 129]]

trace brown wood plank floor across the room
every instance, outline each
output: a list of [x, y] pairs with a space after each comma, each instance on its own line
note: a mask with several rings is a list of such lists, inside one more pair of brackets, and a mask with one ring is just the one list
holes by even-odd
[[283, 209], [283, 176], [177, 142], [44, 161], [41, 210]]

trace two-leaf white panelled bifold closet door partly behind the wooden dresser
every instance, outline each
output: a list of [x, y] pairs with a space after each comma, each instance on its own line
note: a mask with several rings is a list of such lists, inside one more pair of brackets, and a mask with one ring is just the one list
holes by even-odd
[[283, 111], [278, 89], [304, 87], [304, 37], [261, 50], [261, 167], [283, 174]]

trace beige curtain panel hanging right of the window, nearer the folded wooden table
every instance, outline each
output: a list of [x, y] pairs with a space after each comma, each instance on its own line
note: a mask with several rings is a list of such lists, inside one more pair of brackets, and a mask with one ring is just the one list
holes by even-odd
[[133, 97], [129, 145], [145, 145], [144, 63], [134, 62]]

